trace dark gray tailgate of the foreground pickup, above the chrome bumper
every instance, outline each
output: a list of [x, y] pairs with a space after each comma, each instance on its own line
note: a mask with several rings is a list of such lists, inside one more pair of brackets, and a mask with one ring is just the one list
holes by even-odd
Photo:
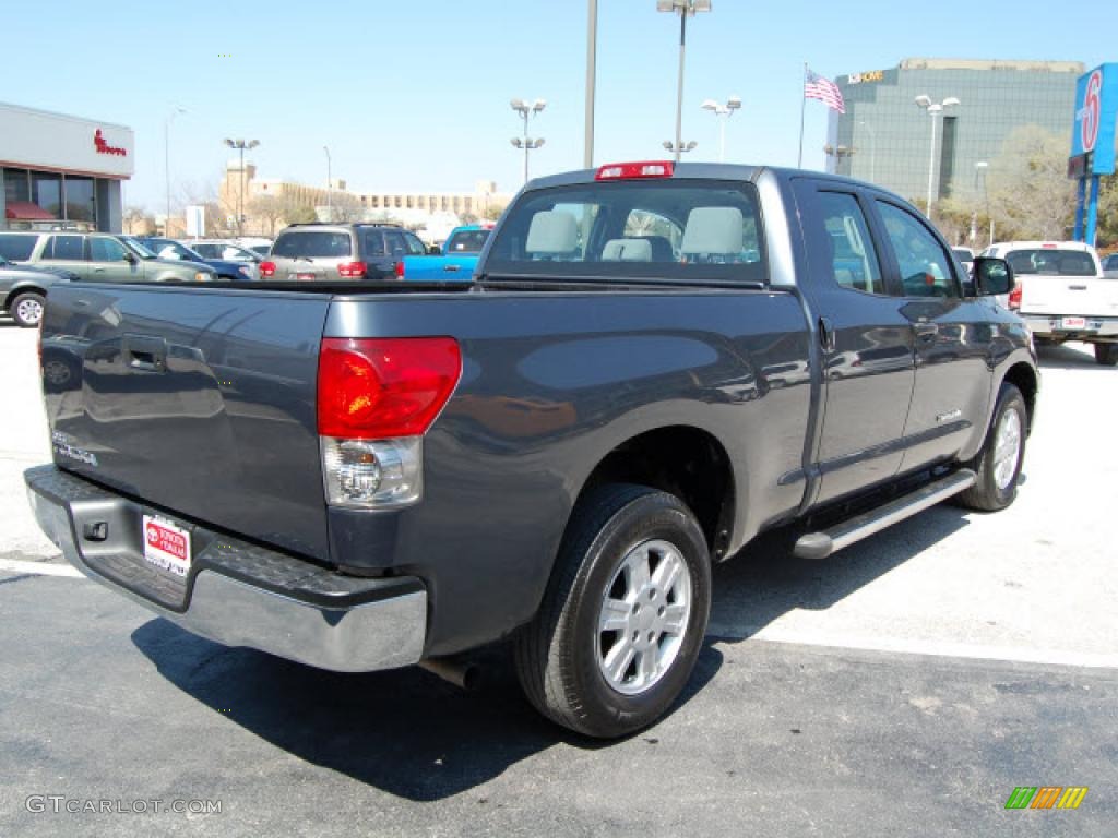
[[328, 294], [51, 289], [55, 463], [186, 518], [328, 560], [315, 383]]

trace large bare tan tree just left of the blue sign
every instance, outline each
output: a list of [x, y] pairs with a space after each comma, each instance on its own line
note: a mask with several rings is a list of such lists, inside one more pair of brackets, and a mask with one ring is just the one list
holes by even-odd
[[1063, 239], [1076, 211], [1067, 137], [1039, 125], [1014, 128], [989, 168], [991, 215], [998, 238]]

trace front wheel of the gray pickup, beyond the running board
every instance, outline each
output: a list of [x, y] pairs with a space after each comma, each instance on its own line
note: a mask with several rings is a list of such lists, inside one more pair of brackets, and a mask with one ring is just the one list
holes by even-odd
[[[975, 485], [958, 495], [958, 503], [969, 510], [997, 512], [1017, 496], [1017, 478], [1025, 458], [1029, 408], [1021, 391], [1004, 382], [997, 393], [994, 416], [982, 449], [967, 466], [975, 470]], [[1012, 438], [1015, 436], [1015, 440]], [[1003, 445], [999, 446], [998, 440]], [[1012, 444], [1011, 444], [1012, 440]]]

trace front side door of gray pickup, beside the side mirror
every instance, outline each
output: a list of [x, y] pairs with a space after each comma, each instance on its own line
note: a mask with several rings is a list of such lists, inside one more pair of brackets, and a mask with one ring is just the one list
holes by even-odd
[[874, 198], [890, 274], [916, 345], [916, 389], [904, 423], [903, 470], [954, 457], [984, 430], [997, 334], [989, 301], [964, 297], [955, 260], [927, 221]]

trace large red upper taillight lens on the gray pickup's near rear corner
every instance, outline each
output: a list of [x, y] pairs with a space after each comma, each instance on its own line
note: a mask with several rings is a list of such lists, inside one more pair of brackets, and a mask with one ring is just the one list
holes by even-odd
[[319, 435], [421, 435], [461, 375], [453, 337], [326, 337], [319, 351]]

